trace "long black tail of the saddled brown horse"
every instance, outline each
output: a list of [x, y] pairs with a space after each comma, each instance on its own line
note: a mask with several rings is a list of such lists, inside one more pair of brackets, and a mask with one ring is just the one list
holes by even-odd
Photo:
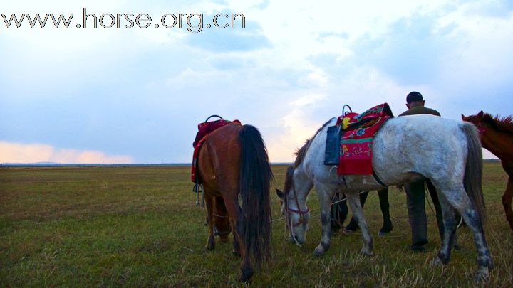
[[253, 255], [257, 267], [271, 259], [271, 205], [269, 188], [274, 178], [269, 157], [257, 128], [244, 125], [239, 132], [241, 145], [239, 187], [242, 213], [239, 219], [248, 256]]

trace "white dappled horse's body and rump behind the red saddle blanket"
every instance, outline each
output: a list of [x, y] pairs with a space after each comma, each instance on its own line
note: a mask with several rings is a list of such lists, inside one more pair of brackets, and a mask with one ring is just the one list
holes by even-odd
[[462, 178], [467, 137], [461, 125], [452, 119], [425, 114], [390, 119], [375, 135], [373, 168], [378, 176], [393, 182], [406, 181], [413, 174]]

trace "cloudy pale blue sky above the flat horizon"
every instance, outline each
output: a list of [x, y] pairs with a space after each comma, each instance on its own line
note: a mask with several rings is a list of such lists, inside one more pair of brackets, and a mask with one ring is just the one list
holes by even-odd
[[[152, 21], [125, 28], [122, 15], [119, 28], [94, 28], [88, 18], [78, 28], [83, 8]], [[0, 163], [188, 163], [197, 124], [212, 114], [259, 128], [270, 160], [290, 162], [343, 105], [363, 112], [388, 102], [400, 114], [414, 90], [450, 119], [513, 114], [510, 0], [0, 5], [7, 21], [24, 13], [73, 19], [7, 28], [0, 16]], [[181, 28], [172, 16], [168, 28], [160, 23], [180, 13]], [[187, 26], [191, 14], [203, 14], [201, 31]], [[207, 28], [216, 14], [243, 14], [245, 27], [238, 18], [234, 28]]]

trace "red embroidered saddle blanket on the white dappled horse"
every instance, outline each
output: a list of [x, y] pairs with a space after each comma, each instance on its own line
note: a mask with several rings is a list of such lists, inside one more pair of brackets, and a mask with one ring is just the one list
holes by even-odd
[[387, 103], [361, 114], [346, 113], [338, 117], [342, 125], [337, 174], [373, 174], [373, 137], [386, 119], [393, 117]]

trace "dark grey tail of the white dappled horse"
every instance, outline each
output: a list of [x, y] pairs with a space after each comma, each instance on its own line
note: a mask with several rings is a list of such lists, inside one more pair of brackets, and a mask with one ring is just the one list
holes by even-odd
[[462, 131], [467, 137], [467, 164], [465, 166], [465, 176], [463, 185], [465, 191], [474, 206], [477, 216], [484, 224], [486, 220], [486, 210], [484, 207], [484, 198], [482, 193], [482, 149], [476, 127], [471, 123], [463, 123]]

